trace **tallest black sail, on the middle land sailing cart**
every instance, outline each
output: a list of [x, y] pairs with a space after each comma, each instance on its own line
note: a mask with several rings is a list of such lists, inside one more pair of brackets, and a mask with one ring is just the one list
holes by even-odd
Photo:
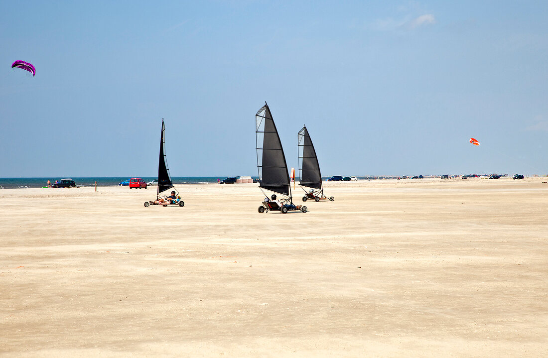
[[259, 186], [289, 196], [289, 174], [282, 142], [266, 104], [255, 115]]

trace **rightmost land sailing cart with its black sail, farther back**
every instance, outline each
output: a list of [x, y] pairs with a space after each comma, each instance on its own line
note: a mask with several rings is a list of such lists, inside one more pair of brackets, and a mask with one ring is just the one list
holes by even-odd
[[[314, 149], [314, 145], [312, 144], [309, 132], [306, 129], [306, 125], [302, 127], [297, 134], [297, 140], [299, 149], [299, 185], [305, 192], [304, 197], [302, 197], [302, 201], [309, 199], [314, 201], [335, 200], [335, 198], [328, 198], [323, 194], [322, 174], [319, 171], [318, 157], [316, 155], [316, 149]], [[309, 187], [310, 190], [307, 192], [302, 187]]]

